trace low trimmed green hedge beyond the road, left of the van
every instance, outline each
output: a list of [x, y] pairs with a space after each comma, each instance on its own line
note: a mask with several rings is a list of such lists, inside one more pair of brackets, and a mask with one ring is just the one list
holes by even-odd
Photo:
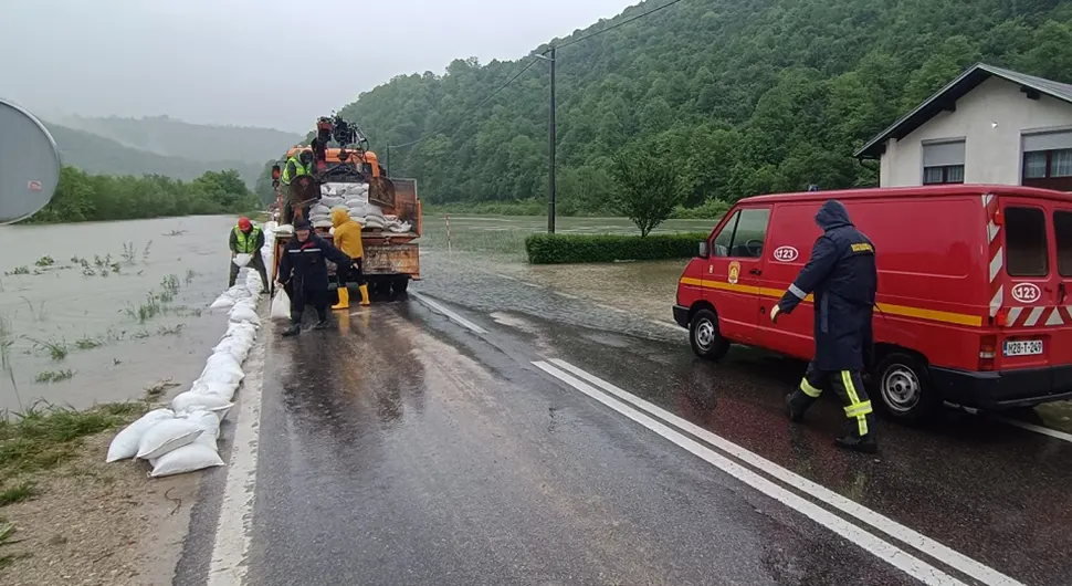
[[705, 233], [533, 234], [525, 239], [525, 251], [533, 264], [689, 259], [706, 238]]

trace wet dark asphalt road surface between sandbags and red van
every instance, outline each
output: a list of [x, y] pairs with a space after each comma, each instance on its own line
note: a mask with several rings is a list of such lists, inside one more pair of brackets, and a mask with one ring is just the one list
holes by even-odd
[[[416, 289], [486, 333], [416, 299], [296, 341], [266, 326], [245, 584], [917, 584], [533, 365], [550, 358], [1023, 584], [1072, 584], [1072, 443], [950, 411], [844, 453], [833, 400], [785, 420], [801, 364], [702, 363], [665, 325], [448, 273]], [[225, 473], [177, 584], [204, 583]]]

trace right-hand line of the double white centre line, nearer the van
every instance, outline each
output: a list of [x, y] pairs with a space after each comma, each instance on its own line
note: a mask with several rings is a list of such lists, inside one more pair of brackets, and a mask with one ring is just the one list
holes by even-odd
[[927, 554], [944, 564], [947, 564], [949, 567], [960, 571], [975, 579], [988, 585], [1022, 586], [1021, 583], [999, 573], [989, 566], [976, 562], [975, 559], [971, 559], [970, 557], [947, 547], [915, 530], [908, 529], [885, 515], [876, 513], [854, 501], [845, 499], [844, 496], [827, 489], [826, 486], [817, 484], [795, 472], [791, 472], [755, 452], [746, 450], [745, 448], [742, 448], [740, 446], [737, 446], [725, 438], [716, 436], [715, 433], [712, 433], [700, 426], [691, 423], [666, 411], [665, 409], [656, 407], [630, 393], [627, 393], [621, 388], [602, 380], [569, 363], [559, 359], [553, 359], [550, 363], [567, 373], [597, 385], [603, 391], [617, 397], [618, 399], [621, 399], [622, 401], [626, 401], [642, 411], [647, 411], [648, 414], [666, 421], [682, 431], [704, 440], [711, 446], [718, 448], [742, 462], [745, 462], [767, 473], [768, 475], [780, 480], [790, 486], [794, 486], [799, 491], [806, 492], [843, 513], [852, 515], [859, 521], [862, 521], [863, 523], [866, 523], [868, 525], [871, 525], [872, 527], [886, 533], [887, 535], [895, 537], [907, 545], [911, 545], [919, 552]]

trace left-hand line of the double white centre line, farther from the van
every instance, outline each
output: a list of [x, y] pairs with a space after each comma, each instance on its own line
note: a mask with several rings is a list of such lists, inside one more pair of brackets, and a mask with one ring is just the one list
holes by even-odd
[[596, 399], [597, 401], [610, 407], [629, 419], [644, 426], [659, 436], [674, 442], [685, 451], [703, 459], [707, 463], [718, 468], [719, 470], [758, 490], [767, 496], [770, 496], [786, 506], [796, 510], [816, 523], [819, 523], [838, 535], [841, 535], [849, 541], [849, 543], [855, 544], [865, 552], [885, 561], [890, 565], [901, 569], [905, 574], [908, 574], [919, 582], [932, 586], [966, 586], [964, 582], [960, 582], [945, 572], [942, 572], [937, 567], [927, 564], [923, 559], [919, 559], [904, 550], [901, 550], [900, 547], [883, 541], [882, 538], [858, 527], [856, 525], [853, 525], [844, 519], [807, 501], [796, 493], [775, 484], [758, 473], [748, 470], [744, 465], [738, 464], [712, 450], [711, 448], [701, 444], [698, 441], [693, 440], [683, 433], [652, 419], [651, 417], [641, 414], [639, 410], [627, 407], [621, 401], [610, 398], [610, 396], [606, 393], [575, 378], [572, 375], [560, 370], [546, 362], [535, 362], [533, 364], [540, 370], [544, 370], [545, 373], [566, 383], [592, 399]]

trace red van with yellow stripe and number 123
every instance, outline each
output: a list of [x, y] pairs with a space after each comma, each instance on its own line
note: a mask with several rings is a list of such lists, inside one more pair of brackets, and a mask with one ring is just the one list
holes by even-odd
[[[823, 201], [875, 244], [872, 399], [916, 419], [943, 401], [980, 409], [1072, 398], [1072, 193], [955, 185], [743, 199], [677, 284], [693, 350], [731, 344], [810, 359], [812, 307], [770, 323], [808, 262]], [[803, 305], [810, 305], [809, 295]]]

